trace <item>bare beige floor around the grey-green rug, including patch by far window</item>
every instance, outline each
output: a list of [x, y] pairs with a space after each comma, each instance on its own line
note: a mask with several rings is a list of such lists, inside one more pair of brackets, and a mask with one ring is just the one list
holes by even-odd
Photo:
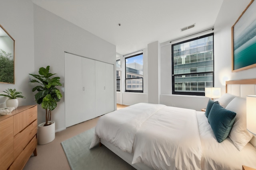
[[[117, 104], [117, 109], [127, 107]], [[37, 145], [37, 156], [28, 160], [24, 170], [70, 170], [61, 142], [95, 127], [100, 117], [70, 126], [55, 134], [55, 139], [45, 145]]]

